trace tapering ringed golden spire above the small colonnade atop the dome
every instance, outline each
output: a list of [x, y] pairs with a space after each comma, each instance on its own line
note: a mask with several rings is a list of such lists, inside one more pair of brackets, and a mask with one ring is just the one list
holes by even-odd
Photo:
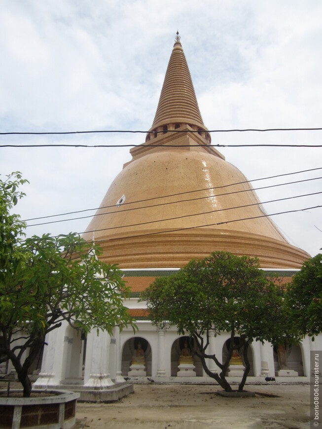
[[168, 127], [170, 124], [177, 128], [178, 125], [188, 124], [193, 128], [207, 131], [198, 107], [179, 32], [177, 32], [159, 104], [149, 132], [157, 131], [160, 127]]

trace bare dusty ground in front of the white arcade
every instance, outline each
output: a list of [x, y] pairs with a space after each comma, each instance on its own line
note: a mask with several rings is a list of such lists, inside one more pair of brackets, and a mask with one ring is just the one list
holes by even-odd
[[310, 428], [309, 384], [247, 385], [255, 397], [226, 398], [217, 385], [135, 385], [116, 403], [77, 403], [80, 428], [305, 429]]

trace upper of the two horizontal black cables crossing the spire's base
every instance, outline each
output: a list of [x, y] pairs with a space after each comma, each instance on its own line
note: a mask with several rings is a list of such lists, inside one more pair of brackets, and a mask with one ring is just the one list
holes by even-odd
[[[226, 130], [189, 130], [191, 133], [243, 133], [243, 132], [268, 132], [268, 131], [321, 131], [322, 127], [317, 128], [245, 128], [245, 129], [226, 129]], [[164, 130], [160, 131], [142, 131], [142, 130], [87, 130], [87, 131], [9, 131], [2, 132], [0, 135], [68, 135], [68, 134], [104, 134], [104, 133], [130, 133], [130, 134], [147, 134], [147, 133], [164, 134]], [[186, 133], [186, 130], [167, 130], [167, 133]]]

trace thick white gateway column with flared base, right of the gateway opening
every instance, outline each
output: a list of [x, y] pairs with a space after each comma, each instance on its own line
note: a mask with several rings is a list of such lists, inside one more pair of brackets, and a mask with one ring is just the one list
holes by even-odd
[[84, 386], [105, 388], [114, 385], [108, 371], [109, 342], [109, 335], [102, 330], [97, 334], [93, 329], [87, 335]]

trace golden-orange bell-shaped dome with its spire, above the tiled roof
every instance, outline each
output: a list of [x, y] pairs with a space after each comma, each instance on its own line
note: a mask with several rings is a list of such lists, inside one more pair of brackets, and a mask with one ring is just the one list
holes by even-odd
[[250, 182], [214, 147], [177, 34], [145, 143], [113, 180], [84, 237], [121, 268], [178, 268], [214, 250], [259, 258], [263, 268], [300, 268]]

